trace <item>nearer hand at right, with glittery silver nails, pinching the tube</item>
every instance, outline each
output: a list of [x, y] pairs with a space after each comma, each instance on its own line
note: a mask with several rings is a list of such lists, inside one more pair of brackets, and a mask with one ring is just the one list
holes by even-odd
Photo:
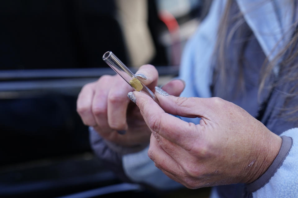
[[[149, 157], [188, 188], [251, 183], [269, 168], [281, 147], [279, 136], [223, 99], [156, 93], [158, 106], [145, 94], [133, 93], [152, 131]], [[195, 125], [170, 114], [201, 120]]]

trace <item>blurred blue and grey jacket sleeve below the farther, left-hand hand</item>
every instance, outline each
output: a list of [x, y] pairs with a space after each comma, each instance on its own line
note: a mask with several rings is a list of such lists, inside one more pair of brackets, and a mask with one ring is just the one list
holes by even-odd
[[142, 183], [157, 189], [169, 190], [183, 187], [159, 170], [144, 149], [126, 148], [104, 140], [89, 127], [90, 144], [95, 155], [101, 159], [122, 181]]

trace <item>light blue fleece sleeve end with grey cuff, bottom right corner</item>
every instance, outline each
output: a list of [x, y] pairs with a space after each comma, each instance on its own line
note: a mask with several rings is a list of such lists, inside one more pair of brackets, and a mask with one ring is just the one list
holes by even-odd
[[246, 186], [249, 197], [298, 197], [298, 128], [281, 134], [282, 147], [268, 170]]

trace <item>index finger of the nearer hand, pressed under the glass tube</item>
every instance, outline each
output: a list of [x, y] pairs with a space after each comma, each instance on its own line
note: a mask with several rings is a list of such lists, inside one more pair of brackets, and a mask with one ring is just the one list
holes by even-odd
[[145, 122], [152, 131], [186, 150], [192, 148], [196, 138], [200, 137], [200, 125], [187, 123], [165, 113], [151, 97], [144, 93], [134, 91], [133, 94]]

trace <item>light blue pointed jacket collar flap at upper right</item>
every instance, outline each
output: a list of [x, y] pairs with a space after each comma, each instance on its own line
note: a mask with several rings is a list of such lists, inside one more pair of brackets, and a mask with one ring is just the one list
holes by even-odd
[[254, 32], [269, 61], [287, 44], [295, 27], [294, 1], [237, 0], [246, 23]]

